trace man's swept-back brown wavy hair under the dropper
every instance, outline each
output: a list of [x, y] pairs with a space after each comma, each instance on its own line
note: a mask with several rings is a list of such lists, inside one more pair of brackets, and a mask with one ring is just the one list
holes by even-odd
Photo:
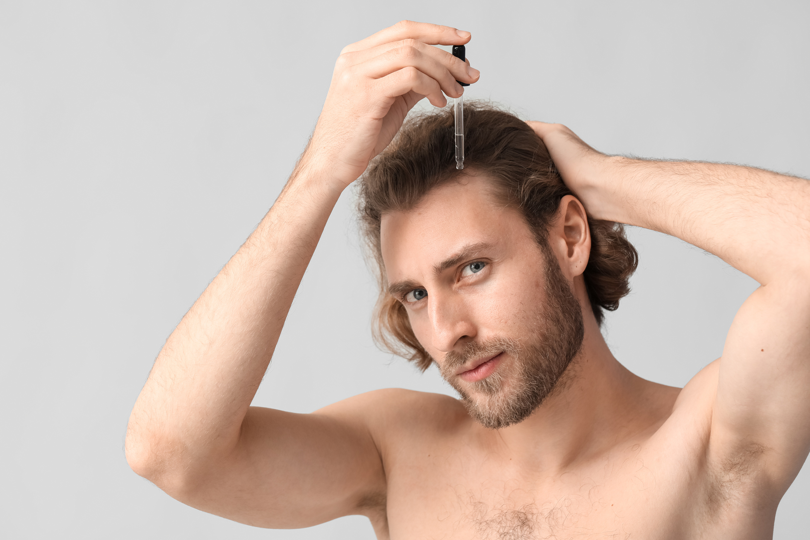
[[[484, 102], [464, 104], [464, 130], [465, 168], [492, 179], [496, 196], [517, 207], [538, 243], [545, 244], [561, 198], [573, 193], [563, 183], [543, 141], [514, 114]], [[382, 348], [416, 362], [423, 371], [433, 359], [411, 330], [405, 306], [388, 294], [380, 222], [386, 212], [411, 210], [428, 191], [458, 176], [454, 145], [452, 109], [410, 117], [359, 181], [361, 228], [380, 285], [374, 338]], [[629, 293], [638, 255], [621, 224], [588, 218], [588, 225], [590, 258], [583, 277], [590, 306], [602, 325], [603, 310], [615, 310]]]

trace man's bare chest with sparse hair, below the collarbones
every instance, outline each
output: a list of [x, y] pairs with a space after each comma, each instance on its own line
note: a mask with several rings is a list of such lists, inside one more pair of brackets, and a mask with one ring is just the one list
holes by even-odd
[[703, 496], [638, 449], [556, 472], [509, 461], [458, 453], [392, 471], [390, 538], [687, 538]]

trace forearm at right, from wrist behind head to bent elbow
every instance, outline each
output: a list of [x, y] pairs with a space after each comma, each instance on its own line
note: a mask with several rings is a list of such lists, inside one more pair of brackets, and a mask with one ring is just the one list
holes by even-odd
[[582, 188], [608, 219], [665, 232], [768, 283], [810, 264], [810, 182], [757, 168], [605, 159]]

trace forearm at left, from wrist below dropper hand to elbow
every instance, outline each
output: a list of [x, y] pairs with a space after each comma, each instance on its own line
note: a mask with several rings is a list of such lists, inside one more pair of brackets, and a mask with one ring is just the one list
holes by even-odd
[[341, 189], [299, 168], [160, 351], [130, 417], [127, 457], [200, 462], [237, 443], [242, 420]]

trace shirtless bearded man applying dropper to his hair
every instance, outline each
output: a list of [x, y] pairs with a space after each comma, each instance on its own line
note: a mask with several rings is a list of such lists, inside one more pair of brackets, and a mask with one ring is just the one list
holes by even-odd
[[[446, 113], [390, 144], [418, 100], [443, 107], [478, 79], [430, 46], [469, 39], [404, 21], [343, 50], [283, 192], [156, 360], [130, 465], [185, 504], [269, 528], [363, 514], [378, 538], [770, 538], [810, 449], [808, 183], [606, 156], [483, 106], [465, 119], [463, 171]], [[367, 168], [380, 335], [436, 362], [462, 399], [389, 389], [311, 415], [251, 407], [330, 210]], [[599, 332], [635, 265], [613, 223], [761, 283], [723, 357], [684, 389], [628, 372]]]

